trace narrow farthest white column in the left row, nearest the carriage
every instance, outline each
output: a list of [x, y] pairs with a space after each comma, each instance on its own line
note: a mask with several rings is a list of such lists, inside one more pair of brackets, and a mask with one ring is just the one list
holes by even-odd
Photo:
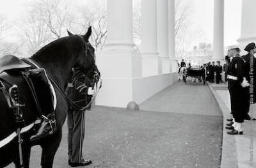
[[175, 61], [175, 0], [168, 0], [168, 52], [171, 61], [171, 72], [177, 71]]

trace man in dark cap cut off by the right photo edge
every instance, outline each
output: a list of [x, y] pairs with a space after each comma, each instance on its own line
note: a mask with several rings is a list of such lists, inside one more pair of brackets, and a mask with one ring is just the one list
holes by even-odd
[[[245, 88], [244, 91], [247, 93], [246, 95], [246, 98], [245, 98], [245, 102], [248, 103], [247, 105], [247, 109], [246, 109], [246, 116], [244, 116], [244, 119], [247, 119], [247, 120], [250, 120], [251, 117], [250, 115], [248, 114], [249, 111], [250, 111], [250, 103], [255, 103], [255, 100], [251, 101], [250, 102], [250, 97], [253, 96], [253, 72], [255, 72], [253, 69], [255, 69], [255, 62], [256, 62], [256, 59], [254, 57], [254, 54], [255, 54], [255, 43], [249, 43], [248, 45], [246, 45], [245, 47], [245, 51], [248, 52], [248, 54], [246, 54], [245, 56], [242, 56], [244, 61], [245, 61], [245, 66], [246, 66], [246, 80], [248, 80], [248, 82], [252, 85], [252, 87], [250, 86], [250, 88]], [[255, 84], [255, 83], [254, 83]], [[251, 91], [250, 91], [251, 90]]]

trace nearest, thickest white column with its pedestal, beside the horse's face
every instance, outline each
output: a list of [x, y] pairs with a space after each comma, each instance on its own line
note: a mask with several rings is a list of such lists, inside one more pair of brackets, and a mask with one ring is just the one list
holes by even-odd
[[134, 100], [134, 78], [141, 77], [141, 57], [132, 38], [132, 0], [108, 0], [106, 49], [97, 57], [102, 89], [97, 105], [126, 107]]

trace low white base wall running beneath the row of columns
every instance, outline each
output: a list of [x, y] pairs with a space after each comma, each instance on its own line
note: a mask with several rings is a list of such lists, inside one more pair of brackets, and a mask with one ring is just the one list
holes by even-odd
[[177, 82], [177, 73], [115, 79], [115, 82], [113, 79], [102, 79], [95, 104], [109, 107], [126, 107], [131, 101], [140, 104], [174, 82]]

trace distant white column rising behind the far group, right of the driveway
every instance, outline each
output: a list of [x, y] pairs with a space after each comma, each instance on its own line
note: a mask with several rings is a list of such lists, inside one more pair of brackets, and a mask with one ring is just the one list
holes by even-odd
[[212, 60], [224, 59], [224, 0], [214, 0], [214, 33]]

